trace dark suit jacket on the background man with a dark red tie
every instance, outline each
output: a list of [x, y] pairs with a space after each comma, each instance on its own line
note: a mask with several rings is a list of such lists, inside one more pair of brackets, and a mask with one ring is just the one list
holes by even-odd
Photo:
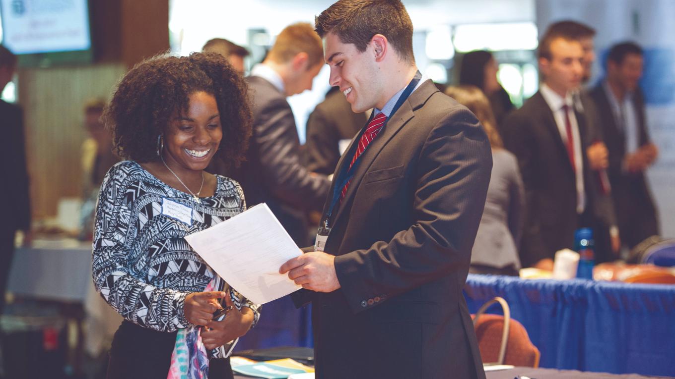
[[[614, 214], [605, 220], [597, 212], [597, 180], [585, 154], [589, 134], [584, 113], [575, 109], [583, 152], [583, 177], [589, 217], [611, 225]], [[574, 231], [580, 227], [576, 213], [576, 179], [553, 112], [541, 92], [513, 111], [504, 123], [504, 144], [516, 154], [525, 185], [525, 217], [520, 261], [531, 266], [563, 248], [574, 248]]]

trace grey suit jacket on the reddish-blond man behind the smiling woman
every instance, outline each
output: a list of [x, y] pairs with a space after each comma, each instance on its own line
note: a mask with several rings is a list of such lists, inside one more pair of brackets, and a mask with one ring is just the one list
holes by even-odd
[[232, 173], [218, 167], [212, 171], [238, 181], [247, 206], [267, 203], [294, 241], [307, 245], [305, 212], [321, 209], [330, 181], [323, 175], [311, 175], [302, 165], [298, 130], [286, 96], [258, 76], [245, 80], [253, 113], [246, 162]]

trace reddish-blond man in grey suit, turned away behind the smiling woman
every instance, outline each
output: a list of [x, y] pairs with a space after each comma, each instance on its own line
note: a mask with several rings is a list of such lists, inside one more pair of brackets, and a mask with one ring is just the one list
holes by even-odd
[[[321, 210], [330, 181], [302, 165], [298, 129], [286, 97], [312, 88], [322, 59], [321, 39], [311, 24], [293, 24], [281, 31], [265, 61], [245, 78], [253, 135], [246, 161], [230, 173], [242, 185], [247, 205], [267, 203], [300, 246], [309, 243], [305, 212]], [[215, 162], [211, 170], [223, 174], [221, 164]]]

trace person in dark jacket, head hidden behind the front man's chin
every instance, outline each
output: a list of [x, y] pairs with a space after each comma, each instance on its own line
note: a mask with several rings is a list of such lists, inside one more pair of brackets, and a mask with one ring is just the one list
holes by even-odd
[[317, 105], [307, 119], [307, 139], [304, 143], [307, 169], [331, 175], [344, 147], [366, 124], [366, 113], [352, 112], [340, 89], [331, 87], [325, 100]]

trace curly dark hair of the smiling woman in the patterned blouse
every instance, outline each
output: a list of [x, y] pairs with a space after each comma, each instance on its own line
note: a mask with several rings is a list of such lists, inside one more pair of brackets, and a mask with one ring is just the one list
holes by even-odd
[[223, 126], [217, 154], [227, 167], [238, 167], [251, 135], [248, 94], [237, 71], [216, 53], [158, 55], [122, 78], [103, 114], [117, 153], [140, 163], [157, 159], [158, 136], [172, 115], [187, 113], [188, 96], [197, 91], [215, 97]]

